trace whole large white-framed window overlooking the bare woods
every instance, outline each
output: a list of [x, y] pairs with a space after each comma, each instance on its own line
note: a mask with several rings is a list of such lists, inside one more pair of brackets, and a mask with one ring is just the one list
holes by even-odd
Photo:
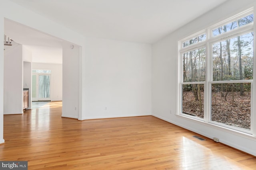
[[254, 14], [179, 41], [178, 114], [252, 134]]

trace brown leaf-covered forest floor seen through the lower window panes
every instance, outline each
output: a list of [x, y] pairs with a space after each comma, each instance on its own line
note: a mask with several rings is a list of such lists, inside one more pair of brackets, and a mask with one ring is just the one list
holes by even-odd
[[[193, 92], [183, 92], [182, 112], [204, 118], [203, 92], [201, 96], [202, 112]], [[250, 92], [244, 92], [244, 96], [240, 96], [240, 92], [224, 92], [224, 97], [221, 96], [221, 92], [212, 92], [212, 121], [250, 129], [250, 101]]]

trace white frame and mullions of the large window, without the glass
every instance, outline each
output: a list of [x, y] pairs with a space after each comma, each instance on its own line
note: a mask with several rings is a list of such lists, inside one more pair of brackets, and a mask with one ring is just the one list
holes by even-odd
[[[178, 54], [178, 76], [177, 76], [177, 82], [178, 82], [178, 86], [177, 86], [177, 101], [178, 101], [178, 107], [177, 107], [177, 111], [176, 111], [176, 115], [178, 116], [182, 116], [182, 117], [186, 117], [186, 118], [190, 118], [196, 121], [201, 121], [204, 123], [210, 123], [211, 125], [215, 125], [218, 127], [222, 127], [222, 128], [226, 128], [229, 130], [234, 130], [238, 133], [246, 133], [246, 134], [250, 134], [253, 136], [256, 136], [256, 111], [255, 108], [253, 107], [253, 101], [255, 101], [254, 99], [256, 98], [256, 87], [254, 87], [253, 85], [255, 84], [255, 80], [256, 80], [256, 57], [255, 57], [255, 52], [253, 54], [253, 80], [224, 80], [224, 81], [213, 81], [213, 75], [212, 75], [212, 63], [213, 63], [213, 59], [212, 59], [212, 45], [214, 43], [218, 43], [220, 41], [225, 41], [227, 39], [231, 39], [234, 37], [238, 37], [240, 35], [244, 35], [246, 33], [250, 33], [250, 32], [254, 32], [256, 33], [256, 29], [255, 29], [255, 25], [254, 25], [254, 21], [252, 23], [248, 23], [246, 25], [242, 25], [241, 27], [237, 27], [236, 29], [232, 29], [230, 31], [221, 33], [220, 35], [216, 35], [213, 36], [212, 31], [218, 27], [222, 27], [223, 25], [226, 25], [230, 22], [233, 21], [237, 21], [240, 18], [243, 18], [245, 16], [248, 16], [250, 14], [254, 14], [254, 20], [255, 20], [255, 13], [254, 13], [254, 8], [249, 8], [248, 10], [244, 11], [244, 12], [240, 12], [239, 14], [236, 14], [235, 16], [232, 16], [226, 20], [220, 21], [206, 29], [203, 29], [201, 31], [198, 31], [197, 33], [194, 33], [193, 35], [190, 35], [188, 37], [185, 37], [183, 39], [181, 39], [180, 41], [178, 41], [178, 48], [177, 48], [177, 54]], [[192, 45], [188, 45], [186, 47], [183, 47], [183, 43], [186, 41], [189, 41], [190, 39], [196, 37], [196, 36], [200, 36], [202, 34], [206, 33], [206, 39], [204, 41], [200, 41], [198, 43], [192, 44]], [[256, 39], [255, 39], [255, 35], [254, 35], [254, 40], [253, 40], [253, 51], [255, 51], [255, 46], [256, 46]], [[205, 75], [205, 81], [204, 82], [184, 82], [183, 81], [183, 53], [195, 50], [195, 49], [200, 49], [202, 47], [206, 48], [206, 65], [205, 65], [205, 70], [206, 70], [206, 75]], [[224, 123], [218, 123], [216, 121], [211, 121], [211, 111], [212, 111], [212, 101], [211, 101], [211, 97], [212, 97], [212, 84], [222, 84], [222, 83], [251, 83], [251, 102], [250, 102], [250, 106], [251, 106], [251, 115], [250, 115], [250, 129], [244, 129], [244, 128], [239, 128], [239, 127], [235, 127], [232, 125], [226, 125]], [[190, 116], [187, 115], [185, 113], [182, 113], [182, 85], [183, 84], [204, 84], [204, 118], [200, 118], [200, 117], [194, 117], [194, 116]]]

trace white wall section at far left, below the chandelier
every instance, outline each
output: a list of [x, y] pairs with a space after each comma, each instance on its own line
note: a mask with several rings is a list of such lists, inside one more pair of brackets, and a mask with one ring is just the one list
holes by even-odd
[[12, 42], [4, 50], [4, 114], [23, 113], [22, 45]]

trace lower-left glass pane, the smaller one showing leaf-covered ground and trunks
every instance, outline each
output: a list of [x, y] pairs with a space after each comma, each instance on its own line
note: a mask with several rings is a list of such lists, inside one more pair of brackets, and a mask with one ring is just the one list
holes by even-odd
[[204, 118], [204, 84], [182, 85], [182, 113]]

